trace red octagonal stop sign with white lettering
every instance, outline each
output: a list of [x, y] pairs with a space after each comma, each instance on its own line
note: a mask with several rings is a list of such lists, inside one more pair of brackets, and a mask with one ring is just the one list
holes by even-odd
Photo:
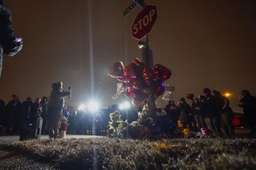
[[132, 37], [140, 40], [147, 35], [153, 28], [157, 19], [155, 5], [147, 5], [140, 13], [137, 14], [133, 26]]

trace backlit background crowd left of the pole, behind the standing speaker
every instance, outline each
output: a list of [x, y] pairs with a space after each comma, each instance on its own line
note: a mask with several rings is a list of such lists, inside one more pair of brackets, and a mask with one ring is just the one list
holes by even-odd
[[[119, 109], [118, 105], [113, 105], [107, 109], [101, 108], [95, 113], [65, 105], [63, 109], [60, 109], [60, 117], [64, 116], [67, 120], [67, 134], [104, 135], [108, 131], [109, 113], [117, 109]], [[50, 130], [51, 121], [58, 122], [58, 129], [61, 125], [61, 118], [55, 119], [54, 113], [52, 114], [51, 111], [50, 102], [46, 97], [36, 98], [34, 102], [27, 97], [26, 101], [21, 103], [17, 95], [12, 95], [6, 105], [3, 100], [0, 100], [0, 135], [20, 135], [26, 119], [41, 116], [43, 119], [41, 134], [48, 135], [50, 133], [50, 136], [53, 136]], [[127, 117], [123, 117], [123, 119], [127, 119]]]

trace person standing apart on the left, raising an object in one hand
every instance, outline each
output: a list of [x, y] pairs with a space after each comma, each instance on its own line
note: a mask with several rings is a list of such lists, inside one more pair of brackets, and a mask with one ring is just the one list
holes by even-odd
[[63, 91], [63, 83], [53, 83], [52, 92], [50, 95], [50, 114], [51, 123], [49, 129], [49, 137], [57, 138], [59, 134], [59, 128], [61, 124], [61, 116], [63, 114], [63, 108], [65, 106], [65, 97], [71, 95], [71, 92]]

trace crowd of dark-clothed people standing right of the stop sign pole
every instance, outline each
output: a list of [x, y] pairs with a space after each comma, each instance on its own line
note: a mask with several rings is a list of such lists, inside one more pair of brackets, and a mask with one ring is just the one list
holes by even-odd
[[[238, 106], [244, 110], [247, 127], [251, 128], [250, 134], [255, 134], [256, 121], [256, 97], [247, 90], [241, 92], [243, 98]], [[147, 101], [142, 109], [139, 124], [146, 125], [153, 132], [170, 133], [175, 127], [189, 129], [193, 132], [212, 133], [216, 137], [234, 138], [233, 110], [229, 106], [229, 99], [220, 92], [204, 88], [203, 95], [191, 99], [191, 106], [185, 98], [181, 98], [177, 104], [170, 100], [164, 109], [156, 108], [156, 116], [149, 119], [147, 116]], [[178, 122], [182, 124], [178, 125]]]

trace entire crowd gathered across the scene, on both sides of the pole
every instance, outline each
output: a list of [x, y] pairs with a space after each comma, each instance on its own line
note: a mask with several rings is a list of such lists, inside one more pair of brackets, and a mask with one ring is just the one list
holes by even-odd
[[[55, 87], [56, 86], [56, 87]], [[234, 138], [233, 111], [229, 106], [229, 99], [220, 92], [204, 88], [203, 95], [192, 99], [191, 106], [185, 98], [181, 98], [177, 104], [170, 100], [165, 108], [156, 108], [154, 119], [147, 116], [147, 101], [144, 102], [140, 112], [130, 109], [129, 113], [121, 111], [118, 105], [113, 105], [107, 109], [100, 109], [97, 113], [90, 113], [86, 110], [75, 110], [73, 107], [65, 106], [64, 98], [70, 95], [69, 92], [62, 93], [63, 84], [58, 82], [53, 84], [51, 101], [46, 97], [37, 98], [34, 102], [28, 97], [21, 103], [17, 95], [12, 95], [11, 101], [5, 105], [0, 100], [0, 125], [1, 134], [20, 134], [22, 124], [26, 119], [41, 116], [43, 119], [42, 134], [49, 134], [50, 137], [57, 138], [61, 127], [61, 120], [67, 121], [67, 134], [77, 135], [104, 135], [108, 131], [109, 114], [120, 111], [122, 121], [132, 123], [137, 121], [139, 124], [146, 125], [153, 132], [168, 132], [178, 127], [178, 121], [183, 129], [191, 131], [201, 131], [207, 129], [215, 136], [222, 137], [221, 129], [224, 129], [226, 137]], [[57, 92], [54, 92], [54, 89]], [[61, 93], [60, 93], [61, 92]], [[213, 93], [213, 95], [212, 95]], [[247, 118], [251, 133], [255, 133], [255, 113], [256, 98], [250, 92], [241, 92], [243, 98], [238, 106], [243, 107], [244, 115]], [[54, 96], [59, 98], [56, 102]], [[132, 110], [132, 111], [131, 111]], [[149, 121], [150, 120], [150, 121]]]

